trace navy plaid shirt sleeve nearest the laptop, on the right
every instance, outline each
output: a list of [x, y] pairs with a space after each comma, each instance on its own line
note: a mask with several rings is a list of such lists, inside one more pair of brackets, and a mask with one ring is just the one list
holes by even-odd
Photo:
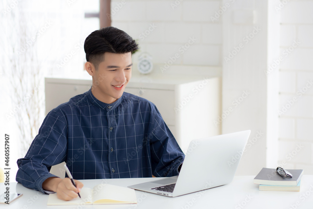
[[178, 175], [178, 168], [182, 165], [185, 154], [155, 106], [154, 111], [153, 121], [151, 121], [153, 126], [149, 136], [152, 173], [156, 177]]

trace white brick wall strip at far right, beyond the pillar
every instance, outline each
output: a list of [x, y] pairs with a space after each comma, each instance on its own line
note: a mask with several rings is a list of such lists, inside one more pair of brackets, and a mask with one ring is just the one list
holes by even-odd
[[[286, 168], [304, 169], [305, 174], [311, 175], [313, 174], [313, 86], [310, 86], [310, 81], [313, 81], [312, 10], [312, 0], [291, 0], [279, 11], [281, 52], [288, 49], [294, 40], [298, 40], [300, 44], [290, 51], [288, 56], [282, 54], [284, 60], [280, 65], [279, 109], [288, 104], [292, 97], [296, 97], [297, 101], [280, 116], [278, 162], [285, 160]], [[288, 154], [295, 150], [297, 144], [304, 148], [290, 158]]]

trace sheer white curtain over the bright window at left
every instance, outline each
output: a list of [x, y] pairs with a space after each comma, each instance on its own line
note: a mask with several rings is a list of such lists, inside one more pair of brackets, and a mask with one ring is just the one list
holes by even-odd
[[99, 19], [86, 19], [85, 12], [99, 12], [99, 1], [0, 3], [0, 153], [10, 134], [10, 181], [45, 117], [44, 77], [84, 70], [85, 38], [99, 29]]

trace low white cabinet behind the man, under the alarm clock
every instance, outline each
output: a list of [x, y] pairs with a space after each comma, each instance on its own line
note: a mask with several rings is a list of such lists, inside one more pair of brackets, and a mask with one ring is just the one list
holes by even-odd
[[[84, 79], [45, 78], [46, 113], [69, 98], [88, 91]], [[192, 139], [219, 135], [215, 125], [221, 113], [221, 79], [218, 77], [132, 77], [125, 91], [148, 99], [160, 111], [184, 152]]]

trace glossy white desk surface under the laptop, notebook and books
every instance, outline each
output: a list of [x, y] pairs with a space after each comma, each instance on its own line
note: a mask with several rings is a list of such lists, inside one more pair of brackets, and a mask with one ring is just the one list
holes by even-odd
[[[193, 209], [193, 208], [313, 208], [313, 175], [304, 175], [301, 180], [299, 191], [259, 191], [258, 185], [253, 184], [254, 176], [235, 176], [232, 183], [208, 190], [191, 193], [178, 197], [167, 197], [147, 192], [136, 191], [138, 204], [127, 205], [87, 205], [87, 206], [47, 206], [48, 195], [41, 194], [23, 187], [18, 183], [10, 184], [10, 192], [23, 193], [18, 200], [10, 205], [2, 205], [1, 208], [14, 209], [37, 209], [37, 208], [171, 208], [171, 209]], [[93, 188], [100, 183], [108, 183], [119, 186], [128, 186], [159, 178], [138, 179], [107, 179], [107, 180], [81, 180], [84, 186]], [[161, 178], [160, 178], [161, 179]], [[4, 183], [0, 184], [0, 192], [5, 190]], [[305, 194], [306, 193], [306, 194]], [[249, 198], [248, 198], [249, 197]], [[298, 201], [298, 202], [297, 202]], [[296, 205], [298, 203], [299, 206]], [[241, 205], [239, 205], [241, 204]], [[291, 205], [293, 207], [291, 207]]]

